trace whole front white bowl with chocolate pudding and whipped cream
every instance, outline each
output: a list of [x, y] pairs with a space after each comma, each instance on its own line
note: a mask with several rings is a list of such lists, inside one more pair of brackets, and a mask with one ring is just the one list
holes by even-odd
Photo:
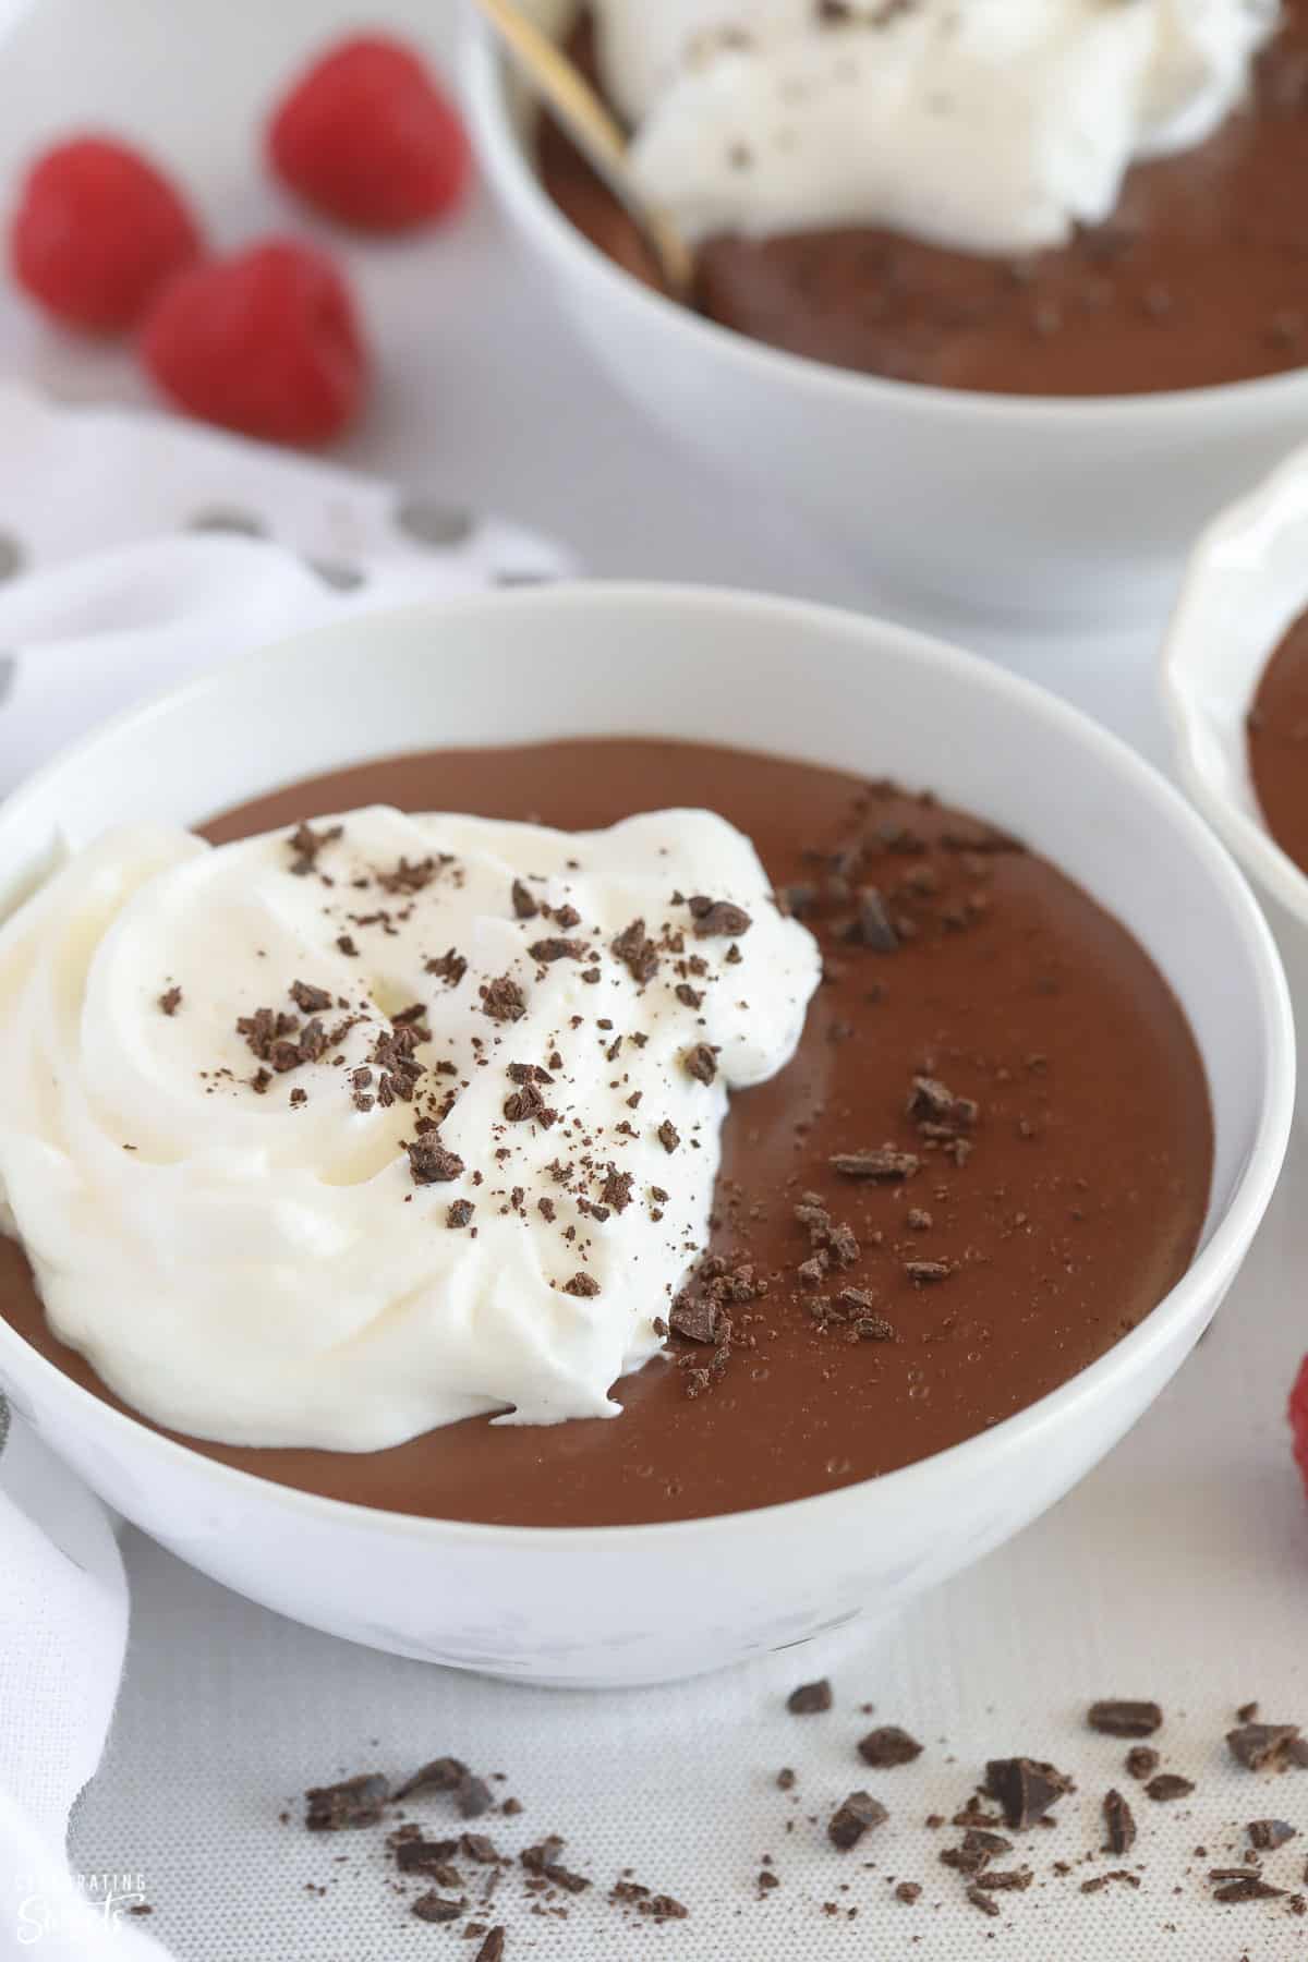
[[812, 606], [306, 634], [16, 793], [0, 893], [14, 1407], [204, 1572], [459, 1668], [894, 1613], [1141, 1415], [1286, 1144], [1182, 799]]

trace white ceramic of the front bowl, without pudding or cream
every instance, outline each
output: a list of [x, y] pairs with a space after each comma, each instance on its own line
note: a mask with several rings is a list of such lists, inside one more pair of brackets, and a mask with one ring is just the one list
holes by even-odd
[[1114, 738], [902, 628], [726, 593], [557, 587], [316, 630], [129, 714], [12, 797], [0, 904], [57, 838], [84, 844], [118, 820], [194, 822], [396, 749], [667, 736], [688, 720], [710, 742], [939, 785], [1114, 908], [1177, 989], [1208, 1067], [1202, 1250], [1108, 1356], [955, 1450], [792, 1505], [631, 1528], [431, 1523], [306, 1497], [120, 1417], [0, 1322], [0, 1381], [53, 1448], [165, 1546], [286, 1615], [498, 1676], [635, 1683], [890, 1613], [1067, 1491], [1159, 1393], [1243, 1260], [1294, 1075], [1284, 979], [1243, 879]]

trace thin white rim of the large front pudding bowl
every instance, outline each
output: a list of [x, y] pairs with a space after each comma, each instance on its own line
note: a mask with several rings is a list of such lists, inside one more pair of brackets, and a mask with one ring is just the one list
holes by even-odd
[[[873, 647], [894, 649], [900, 655], [931, 663], [941, 673], [943, 683], [957, 679], [1006, 697], [1028, 716], [1059, 728], [1079, 748], [1096, 753], [1100, 763], [1116, 773], [1124, 793], [1137, 797], [1143, 804], [1151, 804], [1155, 812], [1163, 810], [1202, 861], [1204, 873], [1214, 887], [1214, 901], [1226, 906], [1228, 918], [1247, 950], [1261, 1014], [1265, 1067], [1257, 1095], [1259, 1114], [1255, 1136], [1243, 1165], [1233, 1175], [1224, 1213], [1212, 1222], [1206, 1244], [1196, 1252], [1175, 1287], [1155, 1303], [1133, 1330], [1114, 1342], [1088, 1368], [1069, 1377], [1069, 1381], [1035, 1403], [1014, 1411], [990, 1430], [963, 1438], [959, 1444], [914, 1460], [896, 1472], [839, 1485], [831, 1491], [784, 1499], [749, 1511], [643, 1524], [514, 1526], [459, 1519], [424, 1519], [355, 1501], [327, 1499], [320, 1493], [302, 1491], [298, 1485], [282, 1485], [261, 1473], [206, 1458], [190, 1444], [178, 1442], [141, 1419], [114, 1409], [65, 1375], [57, 1364], [41, 1356], [39, 1350], [0, 1317], [0, 1360], [6, 1354], [20, 1354], [24, 1358], [24, 1371], [35, 1371], [55, 1397], [65, 1399], [65, 1409], [71, 1407], [73, 1411], [86, 1413], [94, 1424], [108, 1426], [110, 1434], [126, 1436], [129, 1446], [131, 1440], [137, 1440], [147, 1450], [153, 1450], [161, 1470], [178, 1466], [200, 1477], [212, 1475], [237, 1497], [245, 1493], [251, 1503], [257, 1499], [265, 1503], [280, 1501], [302, 1517], [322, 1523], [353, 1523], [363, 1530], [404, 1534], [406, 1538], [426, 1542], [488, 1538], [496, 1546], [535, 1550], [592, 1542], [598, 1550], [604, 1546], [612, 1548], [618, 1538], [628, 1534], [635, 1534], [649, 1544], [671, 1536], [702, 1542], [728, 1532], [775, 1534], [782, 1519], [790, 1523], [792, 1519], [812, 1517], [818, 1507], [826, 1509], [826, 1513], [837, 1513], [839, 1509], [857, 1513], [873, 1489], [884, 1491], [894, 1487], [902, 1501], [912, 1507], [916, 1495], [930, 1495], [930, 1489], [941, 1479], [967, 1477], [969, 1468], [982, 1456], [1008, 1456], [1037, 1442], [1041, 1434], [1055, 1426], [1075, 1422], [1081, 1407], [1108, 1395], [1116, 1381], [1130, 1381], [1145, 1371], [1149, 1362], [1157, 1352], [1167, 1348], [1179, 1328], [1198, 1320], [1202, 1313], [1214, 1313], [1237, 1271], [1253, 1232], [1271, 1203], [1290, 1140], [1294, 1112], [1294, 1018], [1288, 983], [1267, 920], [1239, 867], [1181, 791], [1143, 755], [1132, 749], [1130, 744], [1037, 683], [914, 628], [814, 600], [777, 598], [728, 587], [661, 585], [647, 581], [559, 581], [547, 587], [378, 608], [367, 618], [367, 632], [373, 636], [386, 634], [392, 624], [426, 618], [439, 620], [449, 628], [451, 616], [463, 614], [475, 622], [488, 608], [498, 612], [514, 608], [528, 614], [569, 614], [594, 608], [596, 604], [620, 610], [633, 606], [663, 610], [669, 620], [684, 620], [686, 610], [696, 612], [700, 618], [708, 616], [710, 622], [726, 614], [735, 618], [763, 614], [788, 622], [796, 638], [822, 640], [831, 634], [853, 634], [869, 645], [869, 651]], [[145, 730], [161, 716], [171, 716], [178, 710], [194, 714], [216, 693], [257, 685], [267, 677], [271, 659], [294, 657], [302, 647], [312, 647], [318, 640], [339, 638], [347, 628], [359, 634], [363, 622], [351, 616], [349, 620], [320, 622], [296, 634], [280, 636], [263, 647], [220, 663], [216, 669], [194, 677], [178, 689], [169, 689], [147, 702], [122, 710], [88, 736], [59, 751], [0, 804], [0, 838], [16, 818], [22, 822], [24, 806], [29, 800], [45, 795], [47, 785], [57, 783], [65, 773], [76, 771], [82, 759], [94, 755], [104, 742], [127, 730]]]

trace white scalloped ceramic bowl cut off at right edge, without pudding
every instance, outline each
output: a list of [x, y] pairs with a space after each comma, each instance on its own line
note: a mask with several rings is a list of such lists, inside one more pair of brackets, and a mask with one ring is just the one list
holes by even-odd
[[1200, 538], [1161, 669], [1181, 781], [1253, 879], [1308, 1032], [1308, 875], [1267, 830], [1245, 736], [1261, 673], [1304, 608], [1308, 447]]

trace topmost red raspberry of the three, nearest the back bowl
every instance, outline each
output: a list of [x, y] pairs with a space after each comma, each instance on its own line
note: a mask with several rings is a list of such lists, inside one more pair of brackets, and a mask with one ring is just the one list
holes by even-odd
[[269, 126], [269, 157], [302, 198], [365, 232], [406, 232], [463, 196], [469, 141], [453, 102], [400, 41], [341, 41]]

